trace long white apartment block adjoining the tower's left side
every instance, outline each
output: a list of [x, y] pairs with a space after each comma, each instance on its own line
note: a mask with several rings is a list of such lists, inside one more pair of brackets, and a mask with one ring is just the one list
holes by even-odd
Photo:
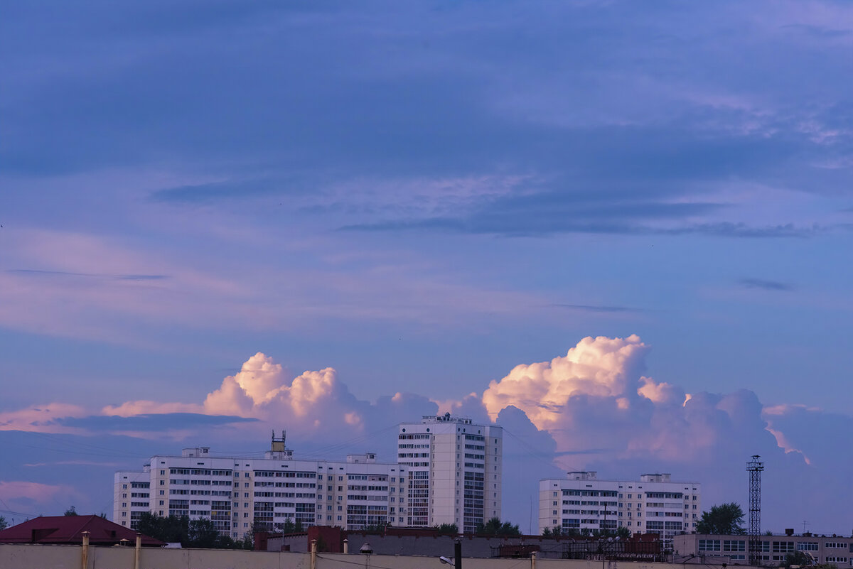
[[142, 472], [117, 472], [113, 521], [136, 528], [142, 512], [209, 518], [219, 531], [241, 538], [258, 521], [355, 530], [403, 526], [408, 468], [377, 463], [373, 453], [346, 462], [296, 460], [284, 437], [264, 458], [213, 457], [210, 448], [183, 449], [180, 457], [154, 456]]

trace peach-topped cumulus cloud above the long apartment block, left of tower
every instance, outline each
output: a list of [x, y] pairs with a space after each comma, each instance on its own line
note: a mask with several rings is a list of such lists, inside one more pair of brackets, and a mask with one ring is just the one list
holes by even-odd
[[[450, 401], [448, 405], [455, 405], [460, 411], [474, 411], [473, 415], [487, 420], [485, 408], [476, 394], [470, 394], [461, 402]], [[378, 430], [396, 428], [398, 422], [417, 420], [421, 415], [432, 415], [437, 411], [435, 402], [415, 394], [397, 393], [380, 397], [375, 402], [357, 399], [339, 381], [334, 368], [304, 371], [293, 376], [275, 359], [258, 352], [241, 365], [240, 371], [233, 376], [226, 376], [219, 387], [206, 394], [200, 403], [136, 400], [108, 405], [101, 414], [125, 419], [144, 418], [144, 421], [134, 423], [140, 428], [135, 436], [141, 437], [146, 436], [146, 430], [154, 436], [162, 436], [163, 429], [157, 427], [157, 417], [171, 417], [165, 419], [170, 424], [180, 417], [196, 417], [183, 422], [187, 428], [169, 431], [171, 438], [199, 440], [199, 428], [202, 426], [206, 427], [206, 436], [209, 437], [210, 428], [227, 425], [229, 434], [220, 429], [217, 432], [218, 440], [222, 436], [234, 438], [237, 433], [240, 433], [242, 440], [257, 439], [261, 432], [269, 428], [282, 428], [287, 429], [289, 440], [299, 440], [294, 444], [297, 449], [322, 444], [340, 445], [340, 449], [347, 447], [351, 451], [384, 452], [387, 459], [391, 460], [396, 455], [393, 440], [389, 439], [389, 443], [380, 438], [371, 439], [368, 435]], [[216, 417], [216, 420], [204, 422], [200, 417]], [[85, 420], [72, 423], [114, 425], [116, 428], [123, 427], [123, 430], [115, 431], [117, 433], [131, 433], [124, 422], [104, 422], [105, 418], [85, 417]], [[146, 426], [149, 428], [146, 429]], [[345, 434], [344, 440], [342, 433]], [[351, 445], [346, 444], [347, 440], [352, 441]], [[199, 440], [199, 444], [209, 442]], [[359, 444], [373, 446], [369, 449], [352, 446]]]

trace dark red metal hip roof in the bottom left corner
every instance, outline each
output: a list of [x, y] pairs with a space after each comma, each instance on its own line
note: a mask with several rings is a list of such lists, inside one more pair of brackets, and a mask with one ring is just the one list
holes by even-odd
[[[134, 530], [99, 515], [39, 516], [0, 531], [0, 543], [83, 543], [83, 532], [89, 532], [92, 545], [115, 545], [122, 539], [131, 547], [136, 544]], [[160, 547], [165, 543], [143, 535], [142, 545]]]

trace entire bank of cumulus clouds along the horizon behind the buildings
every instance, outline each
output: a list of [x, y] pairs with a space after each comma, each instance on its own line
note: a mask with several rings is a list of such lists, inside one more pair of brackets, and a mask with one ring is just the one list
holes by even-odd
[[[369, 444], [384, 451], [380, 458], [393, 460], [397, 423], [434, 414], [440, 407], [502, 424], [508, 431], [506, 482], [526, 491], [535, 491], [539, 478], [559, 476], [566, 469], [606, 468], [601, 474], [615, 477], [641, 474], [631, 468], [669, 468], [676, 479], [690, 476], [703, 482], [707, 505], [738, 499], [730, 488], [743, 478], [745, 457], [758, 453], [769, 464], [769, 475], [782, 474], [771, 487], [802, 496], [778, 512], [767, 501], [772, 513], [785, 512], [786, 524], [792, 523], [791, 516], [805, 514], [809, 520], [822, 516], [827, 524], [843, 519], [844, 500], [834, 507], [821, 502], [826, 510], [818, 513], [803, 498], [814, 500], [814, 495], [790, 484], [808, 475], [827, 480], [836, 497], [850, 495], [844, 481], [833, 475], [833, 469], [850, 468], [850, 457], [827, 452], [821, 442], [832, 437], [821, 432], [824, 422], [849, 428], [850, 417], [800, 405], [764, 407], [747, 390], [685, 394], [643, 375], [648, 350], [639, 336], [586, 337], [565, 356], [517, 365], [481, 395], [441, 402], [403, 393], [360, 400], [332, 368], [293, 376], [270, 356], [256, 353], [197, 403], [132, 400], [95, 413], [74, 405], [39, 405], [0, 413], [0, 430], [83, 438], [107, 431], [160, 445], [165, 445], [164, 437], [172, 440], [171, 446], [213, 445], [216, 451], [216, 445], [233, 448], [263, 440], [270, 428], [287, 428], [297, 456], [363, 450], [358, 445]], [[212, 420], [200, 421], [204, 417]], [[531, 468], [531, 460], [539, 468]], [[53, 499], [55, 493], [46, 496]], [[505, 514], [524, 519], [525, 498], [509, 497]]]

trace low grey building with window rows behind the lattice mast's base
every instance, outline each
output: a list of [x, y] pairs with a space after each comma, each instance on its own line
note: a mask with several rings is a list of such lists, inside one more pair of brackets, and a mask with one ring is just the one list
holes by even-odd
[[[812, 563], [831, 563], [838, 569], [853, 566], [853, 537], [815, 536], [810, 533], [760, 536], [758, 562], [778, 567], [788, 554], [802, 551]], [[749, 537], [692, 533], [673, 539], [676, 563], [749, 565]]]

